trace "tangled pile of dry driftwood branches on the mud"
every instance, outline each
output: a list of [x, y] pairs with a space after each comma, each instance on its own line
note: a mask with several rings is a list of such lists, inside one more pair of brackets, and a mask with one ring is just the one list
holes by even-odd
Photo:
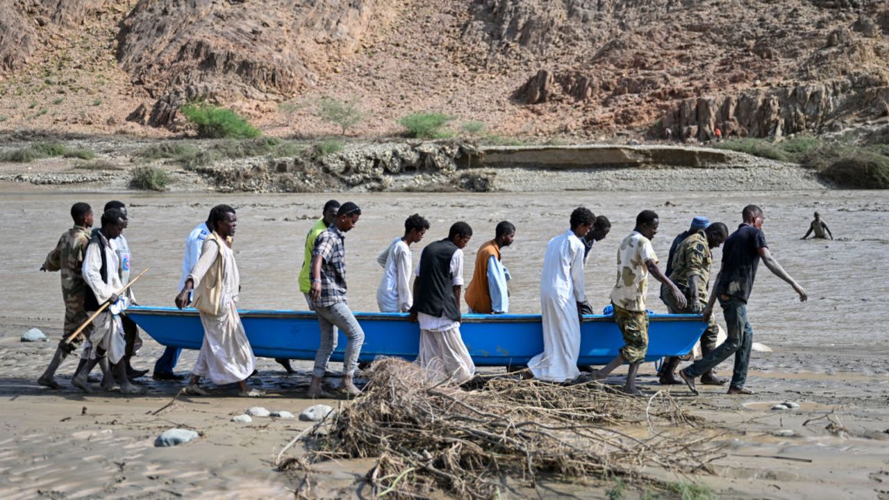
[[698, 424], [665, 393], [634, 398], [601, 383], [502, 376], [465, 391], [428, 382], [404, 360], [383, 359], [361, 396], [294, 439], [305, 455], [282, 460], [282, 452], [276, 462], [285, 470], [377, 457], [367, 474], [372, 496], [438, 490], [493, 497], [505, 477], [533, 487], [541, 477], [645, 480], [648, 467], [692, 472], [716, 457], [712, 434], [692, 431]]

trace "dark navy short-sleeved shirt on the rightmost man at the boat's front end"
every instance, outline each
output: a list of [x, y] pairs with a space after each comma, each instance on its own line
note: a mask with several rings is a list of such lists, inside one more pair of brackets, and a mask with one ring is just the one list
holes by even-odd
[[728, 295], [747, 302], [753, 291], [753, 280], [757, 278], [758, 251], [766, 247], [762, 230], [741, 224], [725, 240], [721, 275], [715, 286], [717, 296]]

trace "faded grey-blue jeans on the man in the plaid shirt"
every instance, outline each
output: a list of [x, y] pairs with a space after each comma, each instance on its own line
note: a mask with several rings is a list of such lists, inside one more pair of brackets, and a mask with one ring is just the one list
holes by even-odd
[[352, 376], [358, 367], [358, 354], [364, 343], [364, 330], [361, 329], [361, 325], [358, 325], [355, 315], [352, 314], [352, 310], [348, 309], [346, 302], [337, 302], [329, 307], [316, 306], [315, 313], [318, 316], [318, 325], [321, 327], [321, 345], [315, 355], [315, 368], [312, 370], [312, 376], [324, 376], [327, 361], [331, 358], [331, 352], [336, 349], [337, 333], [334, 326], [339, 327], [348, 339], [342, 368], [346, 375]]

